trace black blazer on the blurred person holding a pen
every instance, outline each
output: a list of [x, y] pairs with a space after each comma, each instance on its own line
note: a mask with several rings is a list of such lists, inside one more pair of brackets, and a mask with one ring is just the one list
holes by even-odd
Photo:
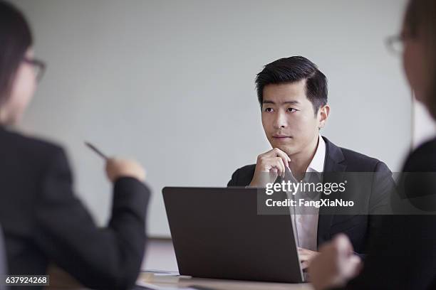
[[61, 147], [0, 127], [0, 225], [9, 274], [46, 274], [55, 262], [90, 288], [130, 288], [145, 249], [149, 190], [119, 178], [108, 226], [98, 228], [72, 188]]

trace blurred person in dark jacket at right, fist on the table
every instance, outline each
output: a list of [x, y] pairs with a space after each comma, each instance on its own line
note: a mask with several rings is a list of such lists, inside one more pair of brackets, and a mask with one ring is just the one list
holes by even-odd
[[[405, 75], [416, 100], [436, 119], [436, 1], [409, 1], [400, 35], [390, 38], [395, 41], [403, 44]], [[363, 264], [348, 238], [338, 235], [313, 259], [309, 276], [314, 288], [436, 289], [435, 173], [432, 139], [408, 156], [399, 181], [403, 198], [428, 214], [385, 215]]]

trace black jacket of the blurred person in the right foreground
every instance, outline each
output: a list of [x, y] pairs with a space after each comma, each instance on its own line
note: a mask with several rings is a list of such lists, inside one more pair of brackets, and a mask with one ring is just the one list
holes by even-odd
[[[405, 198], [436, 210], [436, 139], [413, 151], [403, 172]], [[404, 180], [408, 173], [417, 178]], [[385, 215], [363, 271], [345, 289], [436, 289], [436, 215]]]

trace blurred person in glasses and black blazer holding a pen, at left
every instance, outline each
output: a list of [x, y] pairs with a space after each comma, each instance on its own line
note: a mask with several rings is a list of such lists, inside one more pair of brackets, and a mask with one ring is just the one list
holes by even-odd
[[107, 227], [97, 227], [73, 193], [63, 149], [11, 130], [45, 65], [33, 55], [21, 12], [0, 1], [0, 19], [0, 225], [8, 272], [42, 275], [54, 262], [90, 288], [129, 289], [145, 251], [145, 171], [135, 161], [108, 159], [112, 212]]

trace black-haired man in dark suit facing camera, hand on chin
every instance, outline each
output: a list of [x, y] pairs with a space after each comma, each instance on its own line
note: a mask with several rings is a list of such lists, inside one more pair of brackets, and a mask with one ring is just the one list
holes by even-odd
[[[273, 149], [260, 154], [256, 164], [235, 171], [227, 186], [262, 188], [289, 174], [300, 181], [308, 172], [321, 173], [324, 184], [338, 180], [342, 173], [374, 173], [375, 178], [369, 179], [355, 176], [361, 179], [358, 186], [347, 191], [348, 198], [363, 205], [364, 215], [335, 215], [321, 207], [295, 217], [303, 267], [315, 257], [318, 247], [338, 232], [345, 232], [355, 251], [364, 254], [369, 236], [379, 226], [374, 214], [385, 210], [393, 187], [388, 166], [321, 137], [319, 131], [330, 112], [327, 80], [310, 60], [298, 56], [269, 63], [257, 75], [256, 88], [262, 125]], [[338, 195], [329, 198], [334, 200]]]

